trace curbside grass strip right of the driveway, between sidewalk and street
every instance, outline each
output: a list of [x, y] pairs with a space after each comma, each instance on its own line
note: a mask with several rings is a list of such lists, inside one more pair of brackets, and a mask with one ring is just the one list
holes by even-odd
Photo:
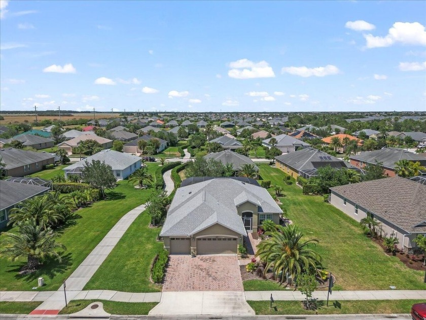
[[[256, 314], [355, 314], [355, 313], [410, 313], [414, 303], [424, 300], [361, 300], [361, 301], [336, 301], [330, 299], [327, 307], [326, 301], [321, 303], [317, 310], [305, 310], [300, 301], [247, 301]], [[275, 307], [275, 308], [274, 308]]]

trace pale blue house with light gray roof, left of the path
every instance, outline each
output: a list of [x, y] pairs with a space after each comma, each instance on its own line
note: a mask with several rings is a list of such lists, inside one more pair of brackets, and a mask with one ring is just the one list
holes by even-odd
[[105, 164], [110, 165], [117, 180], [127, 178], [135, 170], [140, 169], [142, 165], [142, 158], [139, 156], [106, 149], [63, 168], [62, 170], [65, 173], [65, 178], [73, 174], [81, 176], [86, 161], [91, 164], [92, 160], [99, 160], [100, 162], [105, 162]]

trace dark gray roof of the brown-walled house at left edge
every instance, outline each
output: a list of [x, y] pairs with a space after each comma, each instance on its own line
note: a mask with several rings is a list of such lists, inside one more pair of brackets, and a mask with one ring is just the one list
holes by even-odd
[[35, 162], [52, 159], [55, 156], [48, 152], [25, 151], [15, 148], [7, 148], [0, 150], [0, 156], [6, 164], [5, 169], [13, 169], [24, 165], [33, 164]]

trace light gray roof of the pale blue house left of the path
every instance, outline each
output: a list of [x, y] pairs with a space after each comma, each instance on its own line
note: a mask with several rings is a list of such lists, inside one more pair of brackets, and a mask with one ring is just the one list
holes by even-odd
[[100, 162], [105, 162], [105, 164], [110, 165], [113, 170], [124, 170], [127, 167], [135, 164], [140, 161], [141, 158], [136, 155], [131, 155], [129, 153], [122, 153], [115, 150], [102, 150], [98, 153], [95, 153], [87, 158], [76, 162], [68, 167], [63, 168], [62, 170], [69, 171], [76, 168], [82, 168], [83, 165], [87, 162], [92, 163], [92, 160], [99, 160]]

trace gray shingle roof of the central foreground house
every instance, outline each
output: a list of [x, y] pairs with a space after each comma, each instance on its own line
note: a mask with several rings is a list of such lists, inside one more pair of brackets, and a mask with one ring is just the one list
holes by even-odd
[[211, 179], [180, 187], [167, 212], [161, 236], [191, 236], [219, 223], [246, 235], [235, 201], [250, 199], [259, 212], [282, 213], [265, 188], [234, 179]]

